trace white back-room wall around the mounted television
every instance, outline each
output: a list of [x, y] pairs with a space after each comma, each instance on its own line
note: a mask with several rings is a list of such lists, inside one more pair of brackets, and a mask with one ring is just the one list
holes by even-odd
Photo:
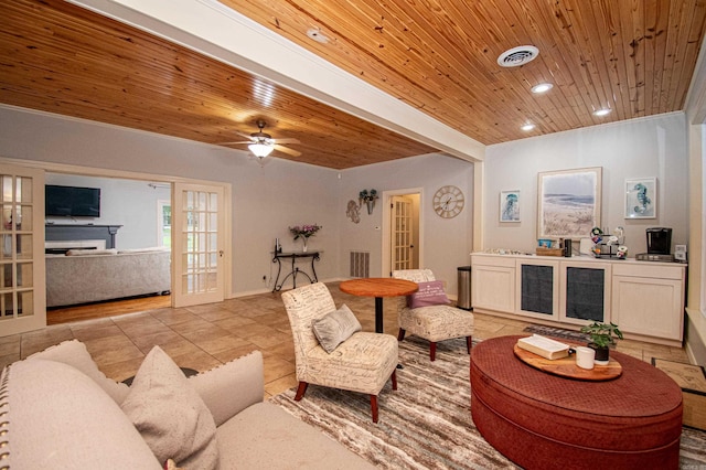
[[122, 225], [115, 242], [118, 249], [159, 246], [157, 202], [171, 199], [169, 188], [151, 188], [146, 181], [46, 173], [46, 184], [100, 189], [100, 217], [46, 217], [54, 224]]

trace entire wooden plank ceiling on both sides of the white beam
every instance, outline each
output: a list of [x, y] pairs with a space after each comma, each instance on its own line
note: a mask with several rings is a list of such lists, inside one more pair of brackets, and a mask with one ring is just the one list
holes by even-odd
[[[222, 2], [485, 145], [681, 110], [706, 24], [702, 0]], [[60, 0], [0, 2], [0, 103], [208, 143], [265, 119], [301, 142], [272, 156], [335, 169], [434, 151]], [[500, 67], [520, 45], [539, 55]]]

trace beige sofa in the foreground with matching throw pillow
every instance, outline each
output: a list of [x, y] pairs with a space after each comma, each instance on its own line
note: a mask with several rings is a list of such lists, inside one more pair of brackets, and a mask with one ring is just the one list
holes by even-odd
[[[159, 452], [176, 457], [193, 448], [194, 453], [174, 458], [175, 463], [189, 469], [373, 468], [318, 429], [263, 400], [260, 352], [190, 378], [173, 362], [160, 362], [157, 353], [171, 362], [163, 351], [153, 349], [131, 387], [107, 378], [75, 340], [6, 367], [0, 376], [0, 441], [7, 444], [0, 446], [0, 467], [160, 469]], [[179, 387], [156, 384], [174, 371], [176, 380], [183, 381]], [[157, 392], [152, 396], [157, 402], [138, 395], [136, 388], [146, 385]], [[196, 416], [199, 407], [184, 399], [189, 393], [200, 397], [203, 407], [191, 428], [174, 424], [183, 421], [183, 416]], [[152, 423], [146, 426], [148, 418]], [[204, 434], [210, 426], [213, 432]], [[158, 442], [156, 450], [156, 435], [176, 440], [171, 448]]]

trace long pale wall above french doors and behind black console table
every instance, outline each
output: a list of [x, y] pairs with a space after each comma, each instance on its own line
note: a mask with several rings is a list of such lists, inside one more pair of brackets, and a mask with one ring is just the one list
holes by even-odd
[[4, 106], [0, 157], [229, 183], [234, 293], [271, 289], [263, 276], [275, 238], [293, 248], [288, 226], [303, 223], [323, 225], [311, 238], [324, 250], [319, 278], [339, 277], [336, 171], [276, 158], [260, 167], [243, 151]]

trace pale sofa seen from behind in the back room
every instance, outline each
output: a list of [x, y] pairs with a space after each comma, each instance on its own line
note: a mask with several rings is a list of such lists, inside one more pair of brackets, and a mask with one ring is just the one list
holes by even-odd
[[46, 256], [46, 307], [171, 290], [167, 248], [71, 249]]

